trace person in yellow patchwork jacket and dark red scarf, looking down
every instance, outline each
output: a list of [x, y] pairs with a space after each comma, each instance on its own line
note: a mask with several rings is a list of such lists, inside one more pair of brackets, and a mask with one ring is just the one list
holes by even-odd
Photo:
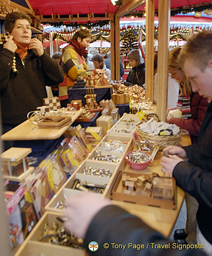
[[88, 69], [83, 56], [87, 55], [86, 48], [91, 41], [91, 33], [87, 29], [77, 31], [69, 45], [63, 49], [62, 63], [64, 72], [64, 81], [59, 86], [59, 98], [61, 104], [65, 106], [68, 103], [67, 90], [74, 86], [75, 79], [83, 76]]

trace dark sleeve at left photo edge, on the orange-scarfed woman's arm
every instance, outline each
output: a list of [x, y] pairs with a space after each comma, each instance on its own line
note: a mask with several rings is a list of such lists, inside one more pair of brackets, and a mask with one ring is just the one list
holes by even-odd
[[5, 90], [10, 79], [10, 72], [12, 71], [12, 63], [14, 53], [8, 49], [2, 49], [0, 52], [0, 88], [1, 94]]

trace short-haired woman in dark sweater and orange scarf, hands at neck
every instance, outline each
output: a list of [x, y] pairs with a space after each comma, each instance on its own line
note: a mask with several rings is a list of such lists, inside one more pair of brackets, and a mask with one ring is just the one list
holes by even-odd
[[[63, 81], [55, 59], [43, 51], [42, 42], [31, 38], [31, 18], [13, 12], [6, 16], [8, 40], [0, 49], [0, 90], [3, 133], [27, 119], [27, 113], [43, 105], [45, 86]], [[15, 60], [15, 65], [14, 65]]]

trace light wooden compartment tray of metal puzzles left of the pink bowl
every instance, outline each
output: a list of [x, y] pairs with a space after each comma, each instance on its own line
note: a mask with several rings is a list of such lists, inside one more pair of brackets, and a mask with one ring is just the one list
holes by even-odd
[[[117, 163], [106, 162], [100, 160], [92, 160], [94, 156], [94, 152], [98, 149], [98, 146], [104, 142], [111, 142], [112, 140], [121, 141], [124, 144], [125, 151], [124, 153], [119, 153], [119, 157], [121, 157], [120, 161]], [[64, 201], [66, 197], [75, 196], [79, 193], [79, 190], [72, 189], [75, 179], [79, 179], [82, 184], [85, 180], [86, 182], [95, 183], [99, 185], [106, 185], [104, 193], [101, 194], [102, 197], [110, 198], [110, 192], [113, 187], [113, 184], [119, 175], [120, 169], [124, 168], [126, 165], [125, 155], [127, 152], [131, 151], [133, 148], [133, 139], [129, 137], [119, 137], [119, 136], [110, 136], [106, 135], [100, 143], [95, 147], [95, 149], [88, 155], [88, 157], [81, 163], [81, 165], [75, 170], [72, 176], [64, 183], [64, 185], [58, 190], [57, 194], [50, 200], [50, 202], [45, 206], [45, 210], [62, 212], [63, 210], [57, 209], [56, 205], [58, 202]], [[105, 153], [101, 151], [101, 155]], [[113, 154], [111, 152], [107, 152], [107, 154]], [[93, 168], [100, 167], [104, 169], [111, 169], [113, 174], [110, 178], [84, 175], [83, 169], [84, 167], [92, 166]]]

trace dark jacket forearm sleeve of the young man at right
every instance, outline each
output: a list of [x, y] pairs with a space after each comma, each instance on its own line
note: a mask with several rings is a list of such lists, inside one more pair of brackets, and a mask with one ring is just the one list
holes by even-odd
[[212, 173], [190, 162], [179, 162], [173, 172], [176, 183], [199, 204], [212, 209]]

